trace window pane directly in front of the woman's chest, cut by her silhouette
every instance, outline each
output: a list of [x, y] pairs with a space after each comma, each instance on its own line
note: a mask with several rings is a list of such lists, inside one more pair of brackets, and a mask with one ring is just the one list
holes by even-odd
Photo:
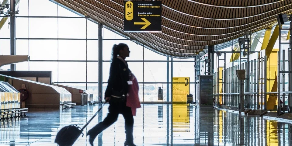
[[143, 62], [128, 62], [128, 65], [137, 81], [143, 82]]

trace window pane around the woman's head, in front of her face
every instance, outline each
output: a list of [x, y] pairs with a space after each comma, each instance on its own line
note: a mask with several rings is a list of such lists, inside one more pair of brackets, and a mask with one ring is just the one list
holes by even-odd
[[130, 50], [130, 57], [126, 60], [143, 60], [143, 47], [130, 40], [116, 40], [116, 44], [125, 43], [128, 45]]

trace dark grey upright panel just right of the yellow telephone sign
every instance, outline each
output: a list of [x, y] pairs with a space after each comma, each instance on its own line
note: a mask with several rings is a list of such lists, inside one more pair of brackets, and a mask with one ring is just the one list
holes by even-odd
[[199, 75], [199, 106], [213, 108], [213, 75]]

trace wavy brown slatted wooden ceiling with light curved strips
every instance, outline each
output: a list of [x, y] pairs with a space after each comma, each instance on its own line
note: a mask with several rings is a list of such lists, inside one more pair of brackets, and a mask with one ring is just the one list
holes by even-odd
[[159, 52], [185, 57], [276, 23], [292, 0], [162, 0], [161, 33], [123, 32], [123, 0], [55, 0]]

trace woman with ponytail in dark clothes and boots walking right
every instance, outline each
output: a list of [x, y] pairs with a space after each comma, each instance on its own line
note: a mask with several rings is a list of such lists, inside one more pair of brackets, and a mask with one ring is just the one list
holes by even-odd
[[93, 146], [93, 141], [96, 136], [112, 125], [122, 114], [125, 119], [125, 146], [135, 146], [133, 140], [133, 125], [134, 118], [131, 108], [126, 106], [128, 85], [131, 84], [131, 71], [125, 61], [129, 57], [129, 47], [124, 43], [119, 43], [113, 46], [112, 63], [110, 65], [109, 80], [105, 92], [105, 100], [109, 102], [109, 113], [103, 122], [98, 123], [95, 127], [90, 129], [87, 133], [89, 135], [89, 143]]

